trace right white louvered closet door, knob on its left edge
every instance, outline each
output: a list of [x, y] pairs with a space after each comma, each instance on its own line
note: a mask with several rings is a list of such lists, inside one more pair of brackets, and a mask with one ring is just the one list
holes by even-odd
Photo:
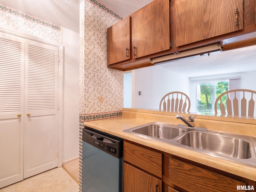
[[58, 47], [26, 40], [24, 178], [58, 165]]

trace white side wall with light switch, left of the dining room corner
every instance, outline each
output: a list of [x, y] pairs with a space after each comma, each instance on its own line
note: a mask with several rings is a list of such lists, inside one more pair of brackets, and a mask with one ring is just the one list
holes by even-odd
[[[189, 96], [188, 77], [172, 72], [161, 65], [132, 70], [134, 108], [159, 109], [162, 97], [168, 92], [180, 91]], [[138, 92], [141, 91], [141, 95]]]

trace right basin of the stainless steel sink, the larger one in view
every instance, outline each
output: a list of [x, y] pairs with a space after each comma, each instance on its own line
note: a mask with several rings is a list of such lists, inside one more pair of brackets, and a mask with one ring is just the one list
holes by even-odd
[[223, 134], [190, 131], [181, 136], [177, 141], [184, 146], [233, 158], [249, 159], [252, 157], [249, 142]]

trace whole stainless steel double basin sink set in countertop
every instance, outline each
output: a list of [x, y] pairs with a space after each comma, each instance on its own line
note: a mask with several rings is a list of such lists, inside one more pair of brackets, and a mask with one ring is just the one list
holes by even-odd
[[160, 122], [130, 128], [124, 132], [256, 167], [256, 138], [251, 136], [202, 131]]

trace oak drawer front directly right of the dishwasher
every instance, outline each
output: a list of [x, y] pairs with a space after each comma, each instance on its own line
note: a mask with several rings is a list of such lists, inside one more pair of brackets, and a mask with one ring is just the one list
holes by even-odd
[[124, 161], [162, 177], [162, 154], [124, 142]]

